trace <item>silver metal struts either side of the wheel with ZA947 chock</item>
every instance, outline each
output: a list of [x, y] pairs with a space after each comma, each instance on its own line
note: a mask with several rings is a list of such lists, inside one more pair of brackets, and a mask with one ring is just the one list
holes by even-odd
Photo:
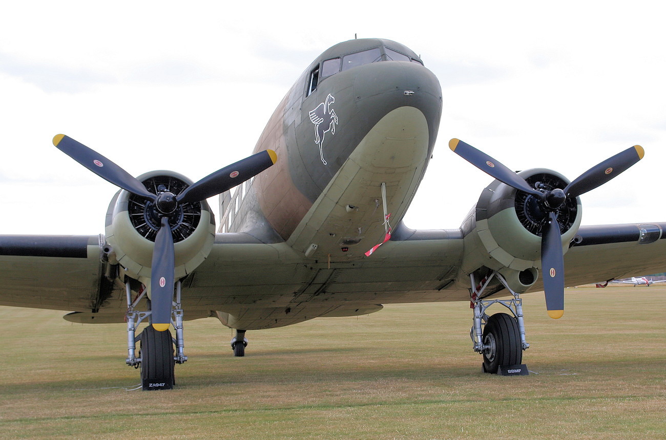
[[[129, 281], [125, 282], [125, 294], [127, 296], [127, 313], [125, 317], [127, 318], [127, 359], [125, 362], [129, 366], [139, 368], [141, 364], [141, 358], [137, 357], [137, 342], [141, 339], [141, 336], [137, 336], [136, 330], [139, 324], [145, 318], [151, 316], [150, 311], [141, 312], [136, 310], [139, 301], [146, 295], [146, 289], [142, 289], [139, 292], [139, 296], [133, 301], [132, 300], [132, 290], [130, 287]], [[176, 330], [176, 338], [172, 338], [174, 344], [176, 345], [176, 355], [173, 357], [173, 360], [176, 364], [182, 364], [186, 362], [187, 356], [184, 353], [184, 338], [182, 334], [182, 316], [183, 310], [180, 305], [181, 298], [181, 284], [180, 280], [176, 282], [176, 301], [172, 302], [171, 308], [171, 325], [174, 326]]]

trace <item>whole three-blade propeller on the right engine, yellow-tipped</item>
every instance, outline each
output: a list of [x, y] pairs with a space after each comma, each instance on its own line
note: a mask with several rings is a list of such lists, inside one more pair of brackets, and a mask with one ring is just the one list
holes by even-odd
[[627, 170], [643, 158], [645, 152], [641, 146], [627, 148], [623, 152], [597, 164], [573, 179], [564, 189], [550, 191], [534, 189], [519, 175], [487, 154], [458, 139], [449, 142], [449, 148], [463, 159], [507, 185], [534, 195], [541, 201], [539, 209], [543, 211], [547, 223], [541, 237], [541, 272], [543, 290], [548, 315], [560, 318], [564, 314], [564, 256], [562, 239], [557, 223], [557, 211], [568, 197], [578, 197], [603, 185], [619, 173]]

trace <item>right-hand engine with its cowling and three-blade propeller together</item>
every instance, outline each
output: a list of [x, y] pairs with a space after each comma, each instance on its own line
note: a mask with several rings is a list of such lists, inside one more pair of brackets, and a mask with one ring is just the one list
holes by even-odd
[[[474, 231], [466, 234], [471, 238], [466, 241], [464, 272], [470, 275], [492, 275], [488, 273], [490, 265], [495, 266], [493, 269], [500, 273], [509, 271], [509, 275], [519, 271], [519, 281], [521, 276], [525, 280], [533, 278], [535, 267], [521, 268], [537, 263], [534, 237], [539, 237], [546, 310], [551, 318], [561, 318], [564, 314], [566, 243], [575, 235], [581, 219], [578, 196], [603, 185], [636, 164], [645, 155], [643, 148], [639, 145], [627, 148], [594, 165], [569, 183], [561, 174], [548, 169], [516, 174], [506, 165], [460, 139], [450, 140], [449, 148], [484, 173], [513, 188], [507, 192], [499, 183], [497, 187], [486, 188], [494, 194], [482, 194], [480, 211], [470, 215], [463, 224], [464, 233], [470, 231], [466, 229], [469, 225], [472, 225]], [[525, 177], [529, 177], [530, 181]], [[513, 201], [513, 207], [509, 201]], [[515, 220], [521, 227], [515, 228]], [[519, 292], [527, 288], [529, 286], [521, 284], [521, 288], [514, 290]]]

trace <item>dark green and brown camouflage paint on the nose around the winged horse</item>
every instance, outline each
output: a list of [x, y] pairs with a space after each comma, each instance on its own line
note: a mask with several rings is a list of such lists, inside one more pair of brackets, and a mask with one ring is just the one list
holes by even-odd
[[[442, 114], [442, 91], [422, 64], [382, 61], [356, 66], [321, 78], [316, 90], [306, 96], [310, 74], [324, 60], [380, 47], [420, 61], [416, 53], [390, 40], [351, 40], [331, 47], [298, 78], [256, 144], [254, 152], [270, 148], [278, 155], [276, 165], [255, 177], [253, 189], [258, 209], [282, 239], [290, 237], [366, 134], [393, 110], [412, 106], [426, 116], [430, 158]], [[322, 104], [335, 115], [336, 122], [322, 123], [328, 130], [314, 124], [310, 116]], [[317, 142], [318, 137], [322, 142]]]

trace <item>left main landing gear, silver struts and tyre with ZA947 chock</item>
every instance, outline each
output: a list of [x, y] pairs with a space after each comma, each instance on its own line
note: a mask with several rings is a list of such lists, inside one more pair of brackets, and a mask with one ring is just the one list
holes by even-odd
[[[147, 326], [140, 336], [136, 336], [137, 326], [151, 316], [150, 310], [140, 312], [135, 310], [139, 301], [145, 296], [146, 291], [140, 292], [137, 299], [132, 301], [129, 282], [125, 283], [127, 294], [127, 365], [134, 368], [141, 367], [141, 387], [144, 390], [171, 389], [175, 384], [174, 364], [182, 364], [187, 360], [184, 354], [184, 342], [182, 336], [182, 307], [180, 306], [180, 281], [176, 282], [176, 301], [172, 303], [171, 324], [176, 330], [176, 338], [171, 337], [171, 332], [165, 330], [158, 332], [153, 326]], [[148, 301], [150, 308], [150, 300]], [[139, 356], [136, 356], [137, 342]], [[174, 344], [176, 354], [174, 356]]]

